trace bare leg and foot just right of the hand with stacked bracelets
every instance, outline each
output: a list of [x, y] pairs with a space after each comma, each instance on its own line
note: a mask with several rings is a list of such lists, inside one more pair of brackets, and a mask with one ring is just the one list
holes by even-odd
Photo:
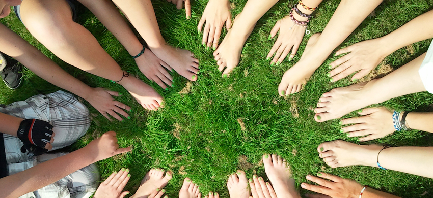
[[[299, 62], [284, 75], [278, 93], [297, 93], [332, 51], [382, 2], [382, 0], [342, 0], [331, 20], [310, 49], [305, 49]], [[355, 13], [355, 14], [354, 14]]]

